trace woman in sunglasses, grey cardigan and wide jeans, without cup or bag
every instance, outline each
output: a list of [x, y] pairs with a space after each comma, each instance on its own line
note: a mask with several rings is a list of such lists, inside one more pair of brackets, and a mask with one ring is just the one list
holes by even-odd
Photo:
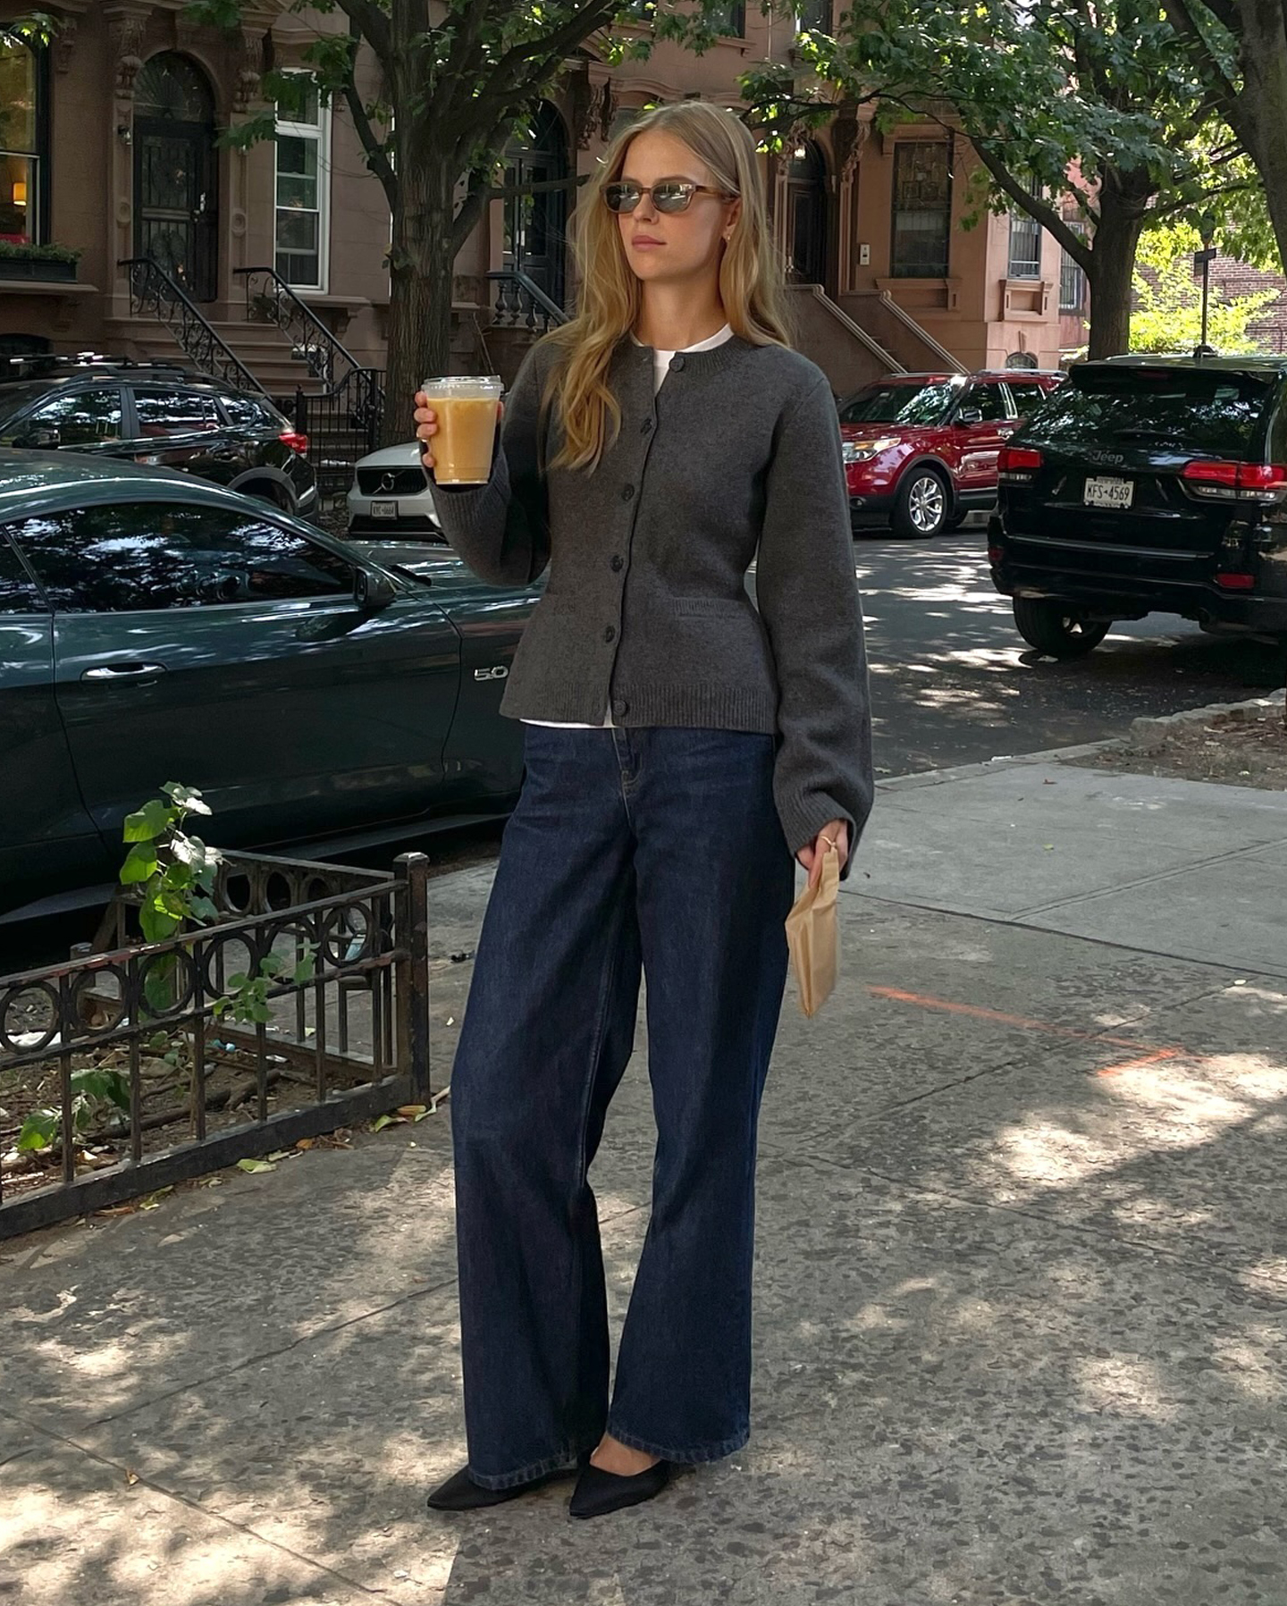
[[[550, 581], [503, 703], [527, 777], [451, 1081], [469, 1465], [435, 1510], [580, 1468], [570, 1511], [599, 1516], [746, 1444], [792, 853], [844, 869], [871, 806], [839, 424], [786, 344], [750, 135], [662, 106], [585, 204], [578, 315], [527, 357], [490, 482], [437, 493], [484, 580]], [[641, 968], [657, 1153], [609, 1410], [586, 1169]]]

